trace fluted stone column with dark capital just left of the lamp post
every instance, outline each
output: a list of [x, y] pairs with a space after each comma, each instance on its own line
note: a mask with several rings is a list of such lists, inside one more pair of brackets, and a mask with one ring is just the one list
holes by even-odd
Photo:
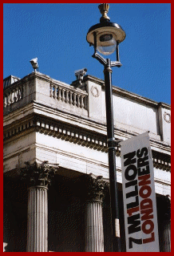
[[102, 197], [105, 182], [89, 175], [86, 181], [85, 251], [104, 252]]

